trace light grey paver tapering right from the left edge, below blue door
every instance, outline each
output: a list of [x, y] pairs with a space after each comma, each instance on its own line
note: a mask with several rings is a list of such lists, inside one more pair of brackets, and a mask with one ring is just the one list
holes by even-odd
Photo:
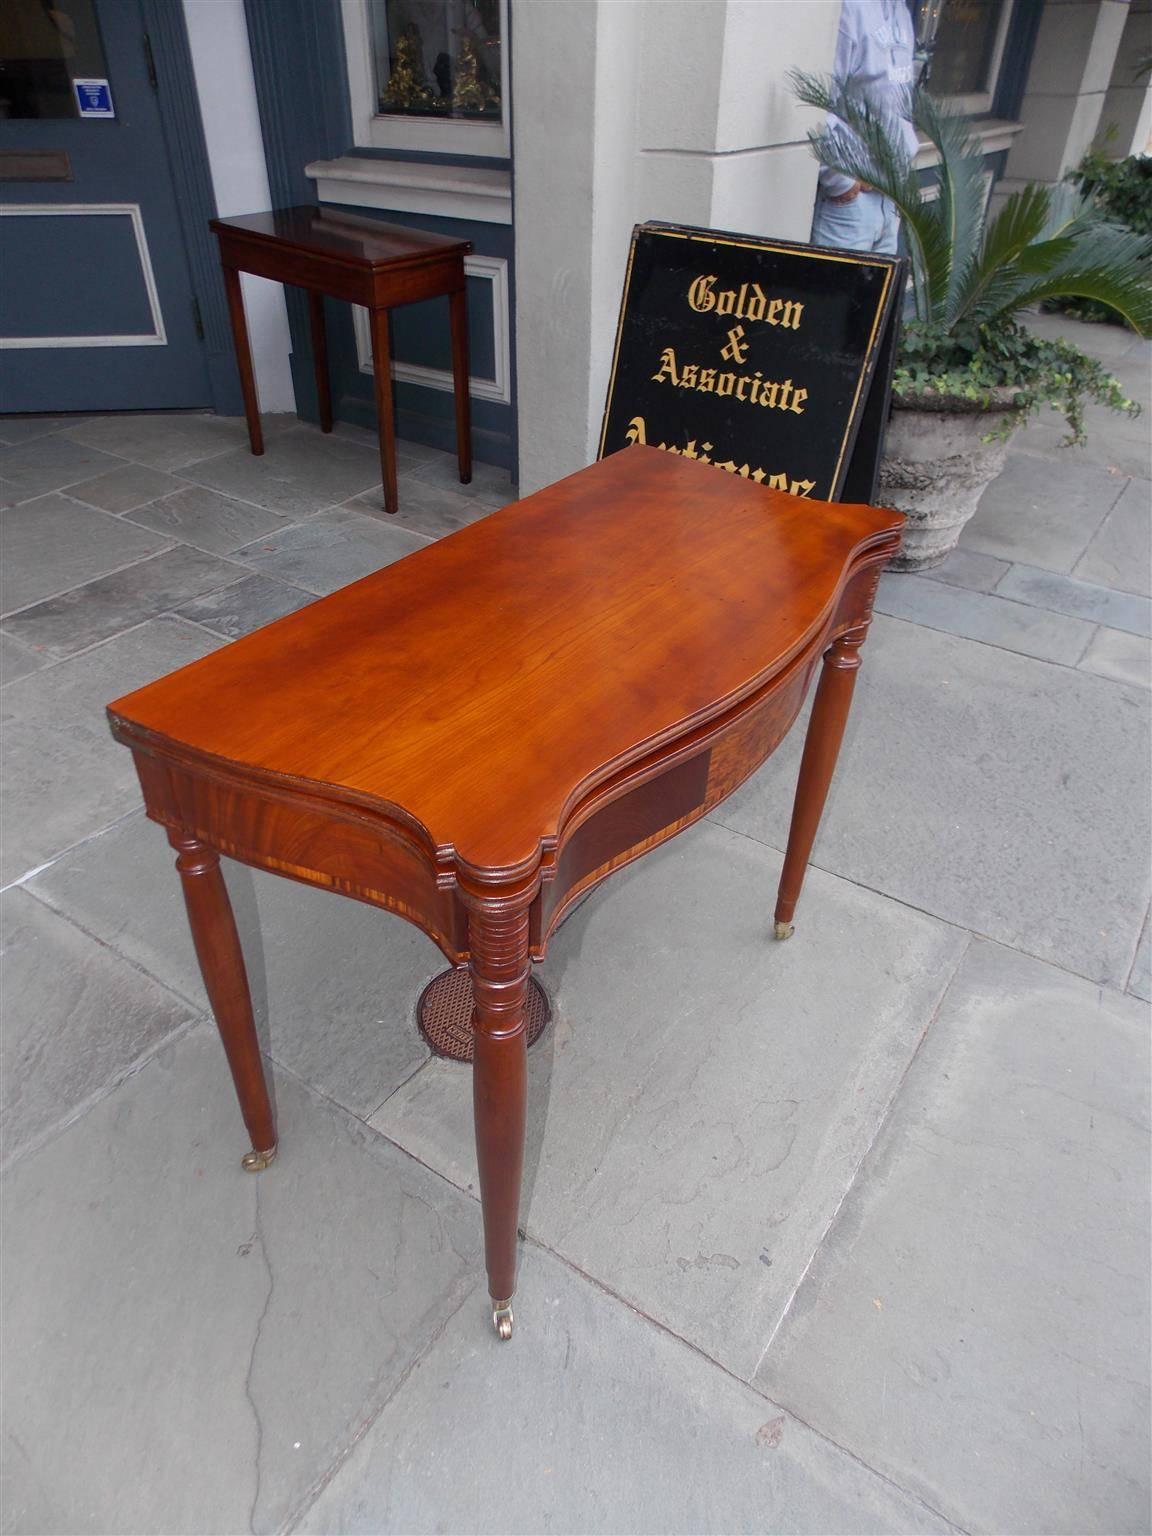
[[41, 496], [0, 516], [0, 613], [12, 613], [132, 561], [170, 539], [68, 496]]

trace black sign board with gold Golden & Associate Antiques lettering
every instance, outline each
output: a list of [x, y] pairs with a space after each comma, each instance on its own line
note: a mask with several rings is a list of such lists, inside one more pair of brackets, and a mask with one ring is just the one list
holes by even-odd
[[871, 501], [903, 261], [637, 224], [599, 456], [648, 442], [822, 501]]

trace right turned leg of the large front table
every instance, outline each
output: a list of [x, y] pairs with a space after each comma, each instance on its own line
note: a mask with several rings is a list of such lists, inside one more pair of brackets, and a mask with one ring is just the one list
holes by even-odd
[[793, 914], [800, 900], [800, 888], [808, 869], [808, 857], [816, 842], [816, 831], [828, 799], [840, 740], [852, 702], [856, 674], [860, 670], [860, 647], [866, 627], [848, 630], [823, 656], [820, 685], [816, 690], [813, 716], [800, 759], [800, 779], [796, 785], [793, 825], [788, 829], [788, 852], [783, 857], [780, 889], [776, 897], [776, 937], [788, 938], [793, 932]]

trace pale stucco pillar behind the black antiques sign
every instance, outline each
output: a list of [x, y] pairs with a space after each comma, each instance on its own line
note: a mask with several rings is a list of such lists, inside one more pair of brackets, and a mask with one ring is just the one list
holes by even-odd
[[515, 6], [521, 493], [596, 452], [631, 226], [806, 240], [816, 115], [793, 68], [831, 69], [840, 0]]

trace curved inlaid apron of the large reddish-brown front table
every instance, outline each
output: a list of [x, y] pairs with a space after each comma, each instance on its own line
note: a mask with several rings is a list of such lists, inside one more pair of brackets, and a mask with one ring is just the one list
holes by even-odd
[[[700, 820], [771, 756], [828, 645], [869, 622], [885, 558], [849, 576], [822, 631], [759, 693], [621, 770], [568, 814], [556, 846], [542, 854], [530, 909], [535, 958], [544, 958], [548, 937], [581, 895]], [[468, 958], [468, 914], [452, 865], [399, 817], [393, 822], [384, 811], [306, 788], [233, 779], [223, 768], [186, 763], [154, 743], [126, 739], [152, 820], [241, 863], [396, 912], [453, 965]]]

